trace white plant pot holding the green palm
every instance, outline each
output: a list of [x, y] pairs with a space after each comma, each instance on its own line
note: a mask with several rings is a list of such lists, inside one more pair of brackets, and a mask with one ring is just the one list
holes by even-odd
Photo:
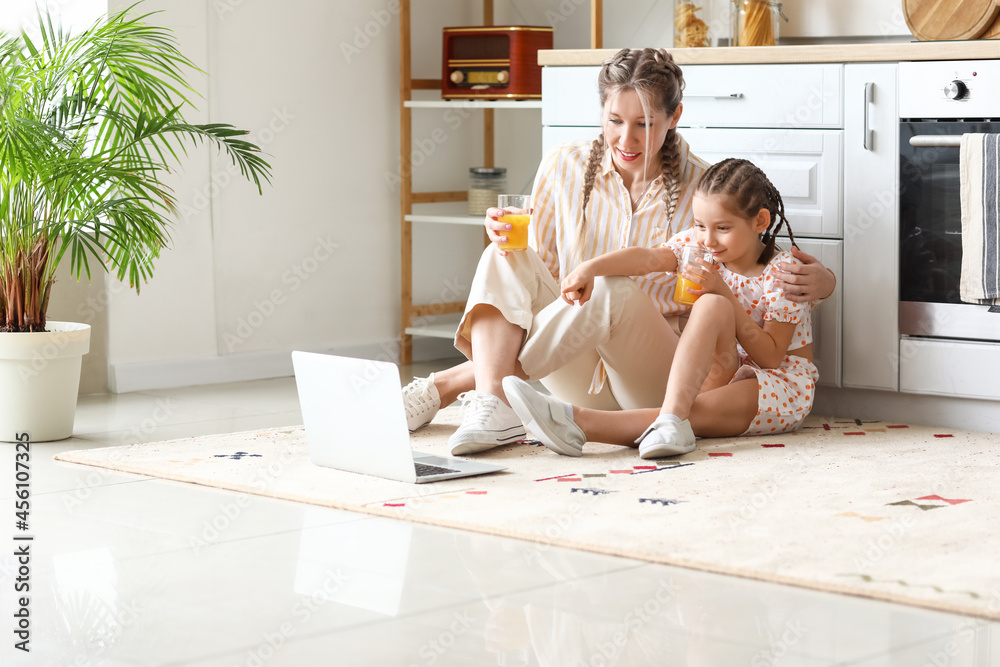
[[[73, 435], [90, 325], [47, 322], [43, 333], [0, 333], [0, 442]], [[21, 436], [23, 438], [23, 436]]]

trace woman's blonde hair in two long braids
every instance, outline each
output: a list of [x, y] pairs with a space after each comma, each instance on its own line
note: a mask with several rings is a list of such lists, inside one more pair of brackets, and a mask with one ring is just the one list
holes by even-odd
[[[667, 116], [673, 116], [681, 103], [684, 76], [681, 68], [665, 49], [622, 49], [604, 61], [597, 77], [601, 109], [609, 98], [623, 90], [634, 90], [644, 104], [649, 104]], [[578, 228], [578, 239], [585, 237], [587, 204], [594, 189], [597, 168], [604, 157], [607, 144], [604, 133], [594, 140], [590, 148], [587, 171], [583, 181], [583, 215]], [[663, 175], [663, 201], [667, 205], [667, 219], [672, 220], [677, 211], [681, 192], [681, 155], [677, 131], [671, 129], [660, 147], [660, 169]]]

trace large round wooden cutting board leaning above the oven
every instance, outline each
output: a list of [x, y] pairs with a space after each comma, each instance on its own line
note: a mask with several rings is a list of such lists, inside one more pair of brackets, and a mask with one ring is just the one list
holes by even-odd
[[922, 41], [975, 39], [1000, 14], [998, 0], [903, 0], [903, 17]]

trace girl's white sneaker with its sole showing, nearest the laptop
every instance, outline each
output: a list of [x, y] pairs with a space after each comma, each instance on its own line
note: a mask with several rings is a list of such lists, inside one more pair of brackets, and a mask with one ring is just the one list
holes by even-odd
[[503, 379], [503, 391], [533, 438], [557, 454], [583, 456], [587, 436], [573, 421], [572, 406], [535, 391], [514, 375]]

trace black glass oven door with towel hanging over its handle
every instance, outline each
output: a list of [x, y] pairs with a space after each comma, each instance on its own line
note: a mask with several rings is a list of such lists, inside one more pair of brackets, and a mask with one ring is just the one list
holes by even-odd
[[1000, 341], [1000, 313], [963, 303], [958, 141], [1000, 121], [900, 121], [899, 332]]

